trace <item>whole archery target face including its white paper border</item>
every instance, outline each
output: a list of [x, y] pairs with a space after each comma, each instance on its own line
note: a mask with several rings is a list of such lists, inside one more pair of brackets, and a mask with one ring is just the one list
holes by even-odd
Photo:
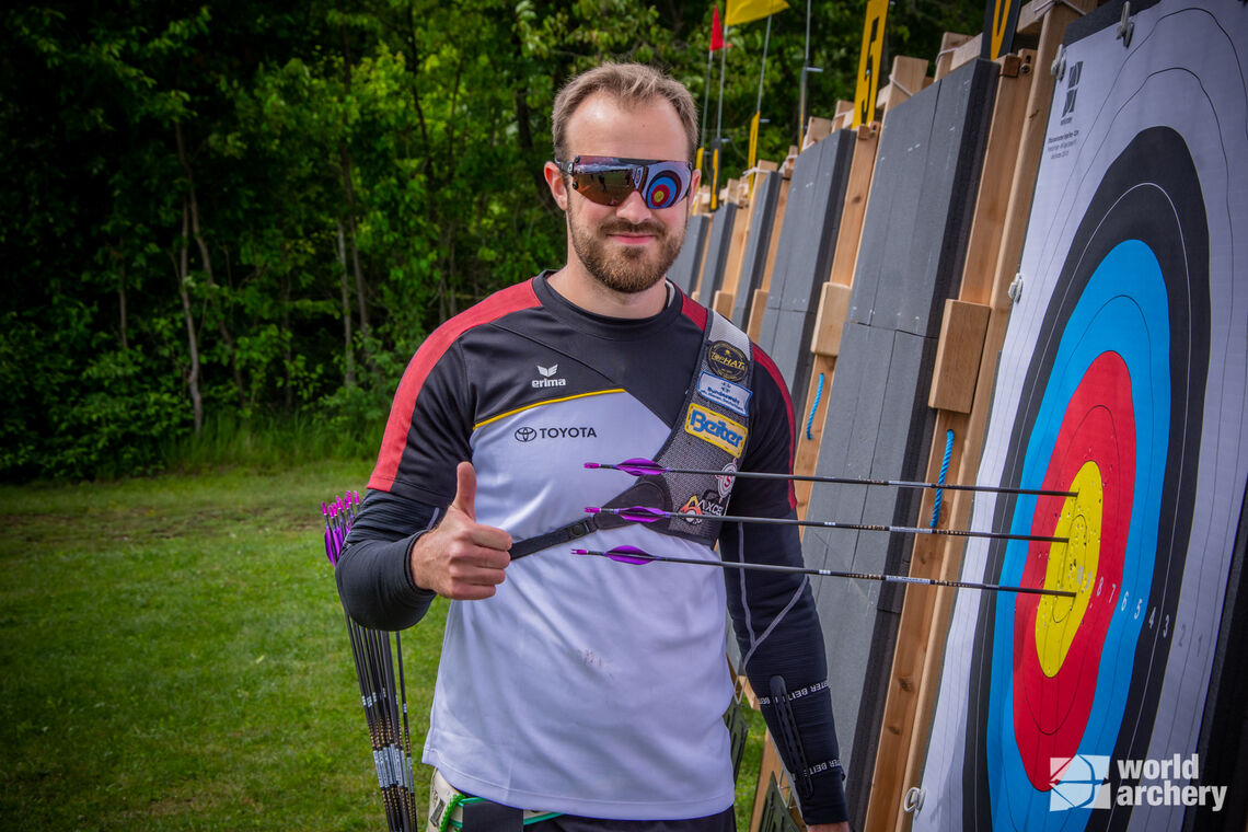
[[1248, 478], [1248, 16], [1222, 11], [1068, 45], [978, 481], [1077, 496], [977, 495], [972, 528], [1067, 543], [971, 543], [962, 578], [1076, 597], [957, 596], [916, 830], [1183, 822], [1073, 762], [1198, 751]]

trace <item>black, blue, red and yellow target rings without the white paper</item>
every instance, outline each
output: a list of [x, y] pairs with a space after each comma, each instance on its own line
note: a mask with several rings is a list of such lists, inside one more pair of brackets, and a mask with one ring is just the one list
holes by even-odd
[[990, 559], [1003, 584], [1077, 597], [985, 599], [993, 827], [1048, 810], [1055, 758], [1123, 758], [1124, 725], [1151, 732], [1169, 646], [1157, 621], [1173, 616], [1164, 588], [1186, 554], [1159, 541], [1188, 536], [1191, 513], [1174, 508], [1194, 491], [1201, 438], [1208, 323], [1189, 304], [1208, 306], [1204, 228], [1186, 143], [1146, 130], [1106, 171], [1057, 278], [1002, 481], [1078, 496], [1005, 499], [996, 524], [1068, 541], [1011, 541]]

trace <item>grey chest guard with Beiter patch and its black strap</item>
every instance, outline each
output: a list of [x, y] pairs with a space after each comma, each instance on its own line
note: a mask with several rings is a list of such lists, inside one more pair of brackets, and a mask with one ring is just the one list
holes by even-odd
[[[680, 419], [654, 460], [660, 468], [721, 470], [709, 474], [650, 474], [613, 498], [605, 508], [644, 505], [679, 513], [646, 524], [650, 529], [714, 546], [719, 539], [716, 516], [726, 513], [738, 469], [749, 437], [749, 400], [754, 356], [749, 337], [730, 321], [710, 311], [701, 353], [685, 393]], [[629, 525], [614, 514], [585, 515], [565, 526], [517, 540], [512, 560], [567, 544], [599, 529]]]

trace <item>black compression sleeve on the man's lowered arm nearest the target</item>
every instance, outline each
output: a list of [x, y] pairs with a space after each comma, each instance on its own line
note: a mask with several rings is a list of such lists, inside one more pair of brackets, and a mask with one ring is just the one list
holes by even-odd
[[[802, 565], [796, 526], [725, 524], [719, 545], [725, 561]], [[805, 575], [744, 569], [724, 573], [745, 675], [759, 696], [785, 766], [797, 781], [802, 818], [807, 825], [849, 820], [827, 690], [827, 659], [810, 580]], [[787, 694], [781, 702], [771, 696], [776, 677]], [[791, 715], [796, 743], [782, 740], [786, 712]]]

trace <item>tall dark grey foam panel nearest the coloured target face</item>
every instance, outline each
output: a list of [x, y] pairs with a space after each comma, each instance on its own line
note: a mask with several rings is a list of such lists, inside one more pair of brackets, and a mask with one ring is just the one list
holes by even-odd
[[[926, 469], [936, 414], [925, 388], [940, 312], [962, 273], [997, 75], [995, 65], [975, 61], [886, 116], [851, 314], [827, 394], [820, 474], [920, 479]], [[819, 516], [912, 525], [920, 503], [920, 494], [901, 489], [826, 488], [814, 490], [811, 514], [817, 506]], [[811, 529], [802, 549], [811, 566], [882, 573], [906, 570], [912, 543]], [[817, 589], [821, 615], [859, 622], [826, 642], [829, 665], [841, 667], [841, 679], [829, 680], [837, 726], [849, 726], [842, 735], [854, 732], [842, 740], [841, 760], [851, 772], [846, 797], [855, 823], [869, 812], [876, 758], [887, 742], [881, 725], [902, 601], [889, 585], [824, 581]], [[904, 760], [905, 751], [886, 753]]]

